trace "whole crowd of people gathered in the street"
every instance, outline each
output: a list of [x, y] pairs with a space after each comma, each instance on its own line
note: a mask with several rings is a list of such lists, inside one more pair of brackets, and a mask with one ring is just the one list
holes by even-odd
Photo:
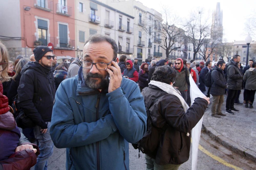
[[[139, 66], [137, 58], [125, 55], [117, 63], [116, 42], [98, 34], [88, 38], [83, 56], [70, 64], [58, 64], [46, 46], [34, 48], [29, 59], [17, 56], [15, 62], [1, 42], [0, 49], [0, 134], [13, 136], [8, 142], [0, 139], [0, 169], [13, 165], [20, 156], [17, 151], [25, 152], [20, 158], [27, 161], [19, 169], [47, 169], [53, 145], [67, 149], [67, 169], [129, 169], [128, 142], [137, 143], [151, 133], [149, 119], [164, 132], [154, 152], [145, 156], [147, 169], [178, 169], [189, 158], [190, 130], [204, 114], [210, 95], [214, 117], [225, 116], [225, 94], [226, 113], [238, 112], [234, 104], [242, 104], [235, 101], [242, 87], [245, 107], [253, 108], [256, 63], [250, 60], [241, 70], [238, 55], [214, 66], [184, 58], [174, 63], [153, 58]], [[205, 84], [208, 73], [211, 86]], [[192, 105], [190, 75], [206, 95]]]

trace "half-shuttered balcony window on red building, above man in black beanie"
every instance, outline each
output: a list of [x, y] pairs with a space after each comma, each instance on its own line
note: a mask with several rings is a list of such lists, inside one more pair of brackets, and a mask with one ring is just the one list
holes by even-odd
[[47, 45], [47, 30], [48, 30], [48, 24], [47, 21], [38, 19], [38, 41], [41, 42], [41, 45]]

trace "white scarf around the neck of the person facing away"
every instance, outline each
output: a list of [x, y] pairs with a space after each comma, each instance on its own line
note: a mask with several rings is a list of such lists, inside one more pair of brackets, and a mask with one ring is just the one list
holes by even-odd
[[151, 80], [149, 84], [160, 88], [161, 90], [165, 91], [168, 94], [177, 96], [182, 104], [183, 110], [185, 111], [185, 113], [187, 113], [187, 110], [189, 107], [188, 107], [186, 101], [183, 99], [180, 92], [178, 90], [176, 90], [173, 86], [166, 84], [166, 83], [157, 82], [154, 80]]

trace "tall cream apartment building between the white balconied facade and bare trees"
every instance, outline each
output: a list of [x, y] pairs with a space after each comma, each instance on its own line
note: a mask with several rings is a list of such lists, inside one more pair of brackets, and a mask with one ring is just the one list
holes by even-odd
[[[138, 58], [138, 64], [147, 58], [162, 58], [161, 36], [158, 29], [162, 15], [154, 9], [147, 8], [141, 2], [135, 0], [101, 0], [109, 6], [125, 12], [134, 17], [133, 29], [134, 58]], [[156, 23], [156, 24], [155, 24]], [[134, 59], [132, 58], [132, 59]]]

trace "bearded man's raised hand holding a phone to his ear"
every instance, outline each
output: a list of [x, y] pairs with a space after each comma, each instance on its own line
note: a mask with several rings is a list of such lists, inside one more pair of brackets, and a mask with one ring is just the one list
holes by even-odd
[[[114, 91], [115, 89], [119, 88], [121, 86], [122, 81], [122, 74], [121, 69], [118, 66], [117, 62], [112, 61], [111, 66], [108, 66], [108, 69], [106, 70], [109, 73], [109, 93]], [[108, 79], [108, 78], [107, 78]]]

